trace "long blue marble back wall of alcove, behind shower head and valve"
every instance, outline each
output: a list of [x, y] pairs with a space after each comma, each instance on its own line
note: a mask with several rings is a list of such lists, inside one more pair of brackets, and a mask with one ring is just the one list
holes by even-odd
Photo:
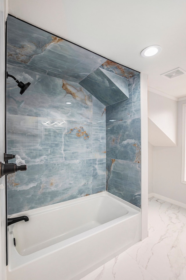
[[105, 106], [78, 83], [12, 65], [7, 70], [31, 82], [20, 95], [7, 80], [7, 152], [28, 165], [8, 175], [8, 214], [104, 191]]

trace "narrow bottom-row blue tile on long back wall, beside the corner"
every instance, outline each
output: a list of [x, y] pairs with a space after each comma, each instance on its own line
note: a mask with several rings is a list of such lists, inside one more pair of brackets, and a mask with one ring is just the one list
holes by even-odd
[[92, 193], [106, 190], [106, 159], [92, 159]]

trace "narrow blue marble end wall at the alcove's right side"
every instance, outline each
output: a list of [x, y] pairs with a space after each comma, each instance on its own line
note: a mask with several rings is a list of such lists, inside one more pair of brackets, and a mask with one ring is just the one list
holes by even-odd
[[140, 74], [128, 84], [129, 98], [106, 107], [106, 189], [141, 207]]

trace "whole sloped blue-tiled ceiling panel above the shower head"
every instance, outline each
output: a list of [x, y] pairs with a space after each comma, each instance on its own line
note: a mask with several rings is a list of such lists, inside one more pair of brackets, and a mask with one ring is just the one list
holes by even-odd
[[[15, 62], [83, 79], [106, 59], [44, 30], [8, 16], [7, 56]], [[23, 38], [23, 39], [21, 39]]]

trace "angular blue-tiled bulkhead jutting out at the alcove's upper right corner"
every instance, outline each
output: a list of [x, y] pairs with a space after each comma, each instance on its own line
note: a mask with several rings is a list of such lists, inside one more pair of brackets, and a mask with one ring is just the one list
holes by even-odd
[[119, 75], [97, 68], [79, 82], [105, 106], [128, 98], [128, 80]]

